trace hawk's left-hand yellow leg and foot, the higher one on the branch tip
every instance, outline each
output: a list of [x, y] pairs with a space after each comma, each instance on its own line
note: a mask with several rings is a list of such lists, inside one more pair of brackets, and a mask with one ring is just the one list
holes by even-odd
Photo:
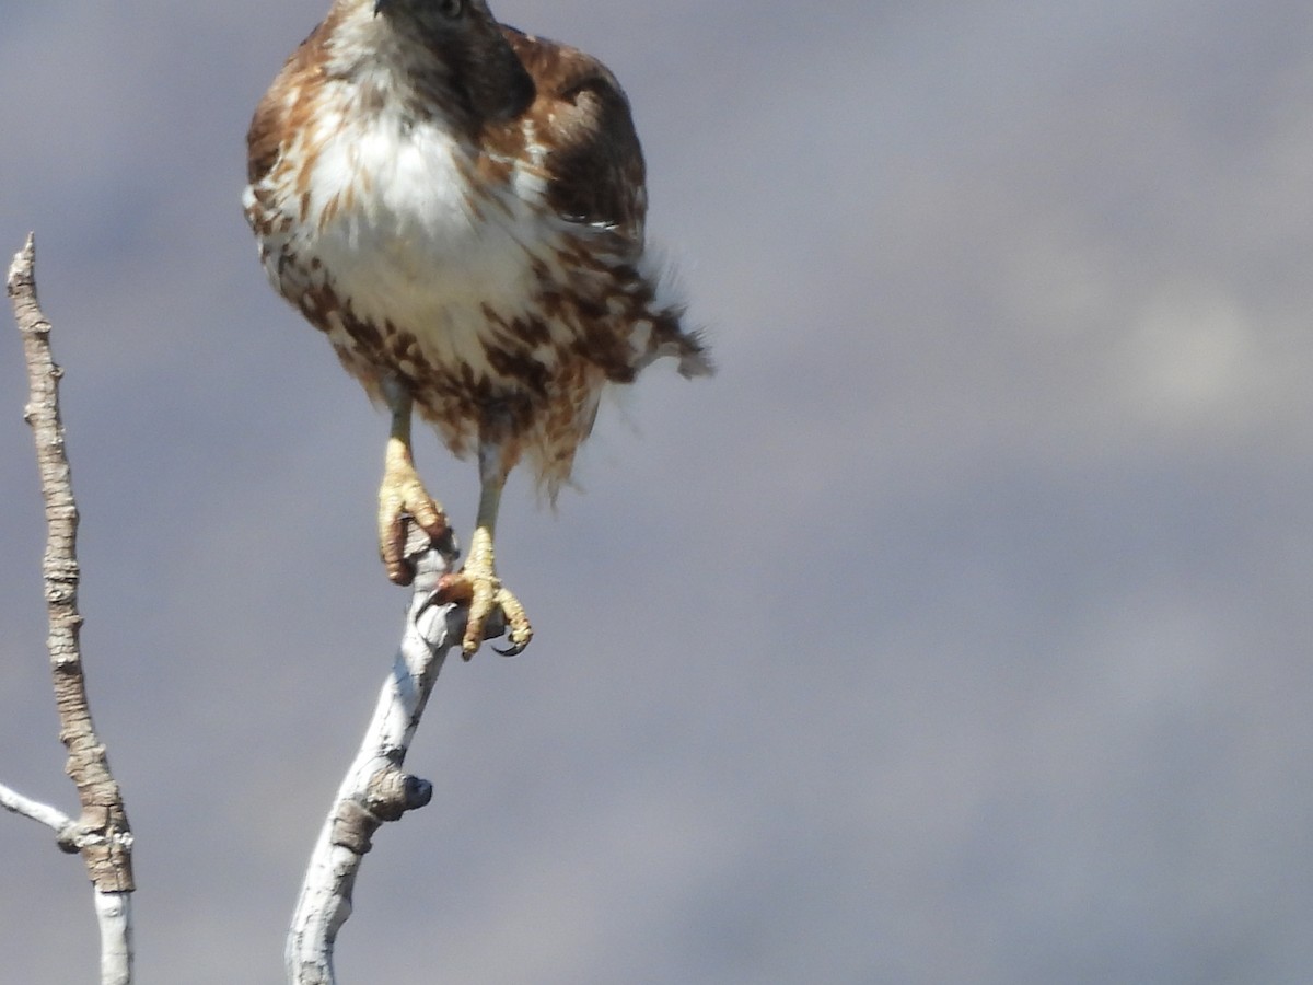
[[406, 517], [410, 516], [428, 535], [439, 540], [446, 533], [446, 515], [415, 471], [411, 457], [410, 391], [398, 381], [383, 383], [383, 395], [393, 414], [383, 456], [383, 482], [378, 487], [378, 550], [387, 577], [397, 584], [410, 584], [415, 577], [406, 561]]

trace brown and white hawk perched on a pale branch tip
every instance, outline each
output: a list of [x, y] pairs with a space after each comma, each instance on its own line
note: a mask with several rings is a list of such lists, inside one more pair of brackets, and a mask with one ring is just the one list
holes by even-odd
[[391, 428], [379, 552], [414, 577], [404, 520], [446, 531], [411, 453], [415, 410], [477, 456], [469, 556], [441, 584], [467, 602], [462, 654], [500, 611], [507, 474], [527, 460], [554, 500], [608, 383], [649, 362], [710, 372], [645, 252], [643, 158], [596, 59], [499, 24], [484, 0], [335, 0], [284, 64], [247, 134], [247, 219], [274, 289], [334, 347]]

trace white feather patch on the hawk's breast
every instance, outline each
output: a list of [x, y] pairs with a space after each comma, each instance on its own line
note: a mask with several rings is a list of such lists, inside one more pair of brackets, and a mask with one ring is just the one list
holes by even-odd
[[[298, 252], [319, 257], [358, 318], [411, 331], [436, 362], [482, 368], [483, 305], [519, 314], [533, 294], [530, 252], [550, 253], [530, 204], [542, 180], [517, 169], [509, 188], [494, 192], [499, 202], [471, 205], [456, 163], [463, 150], [450, 133], [393, 112], [366, 118], [365, 126], [323, 121], [309, 185], [315, 221], [301, 227]], [[319, 222], [344, 188], [355, 189], [351, 208], [339, 198]]]

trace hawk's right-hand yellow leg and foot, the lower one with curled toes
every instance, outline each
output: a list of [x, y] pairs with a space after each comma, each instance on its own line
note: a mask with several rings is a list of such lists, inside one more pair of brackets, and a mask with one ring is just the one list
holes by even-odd
[[479, 444], [479, 515], [470, 538], [470, 553], [465, 566], [456, 574], [444, 575], [439, 582], [440, 602], [466, 602], [470, 613], [465, 621], [465, 638], [461, 641], [461, 655], [470, 659], [483, 642], [483, 626], [488, 617], [502, 611], [506, 619], [511, 646], [498, 650], [503, 657], [513, 657], [529, 645], [533, 626], [524, 612], [524, 605], [502, 584], [496, 575], [492, 549], [492, 532], [496, 528], [498, 508], [502, 504], [502, 489], [506, 485], [508, 466], [496, 443], [483, 440]]

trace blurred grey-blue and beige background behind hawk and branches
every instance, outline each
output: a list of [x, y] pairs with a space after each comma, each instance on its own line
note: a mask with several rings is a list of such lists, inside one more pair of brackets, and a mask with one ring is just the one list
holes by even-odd
[[[386, 420], [239, 208], [324, 9], [4, 0], [146, 985], [281, 981], [400, 632]], [[624, 81], [721, 372], [604, 406], [557, 516], [512, 479], [537, 637], [445, 668], [341, 981], [1306, 981], [1313, 8], [495, 9]], [[25, 399], [0, 331], [0, 780], [72, 809]], [[80, 863], [5, 816], [0, 868], [3, 977], [92, 980]]]

